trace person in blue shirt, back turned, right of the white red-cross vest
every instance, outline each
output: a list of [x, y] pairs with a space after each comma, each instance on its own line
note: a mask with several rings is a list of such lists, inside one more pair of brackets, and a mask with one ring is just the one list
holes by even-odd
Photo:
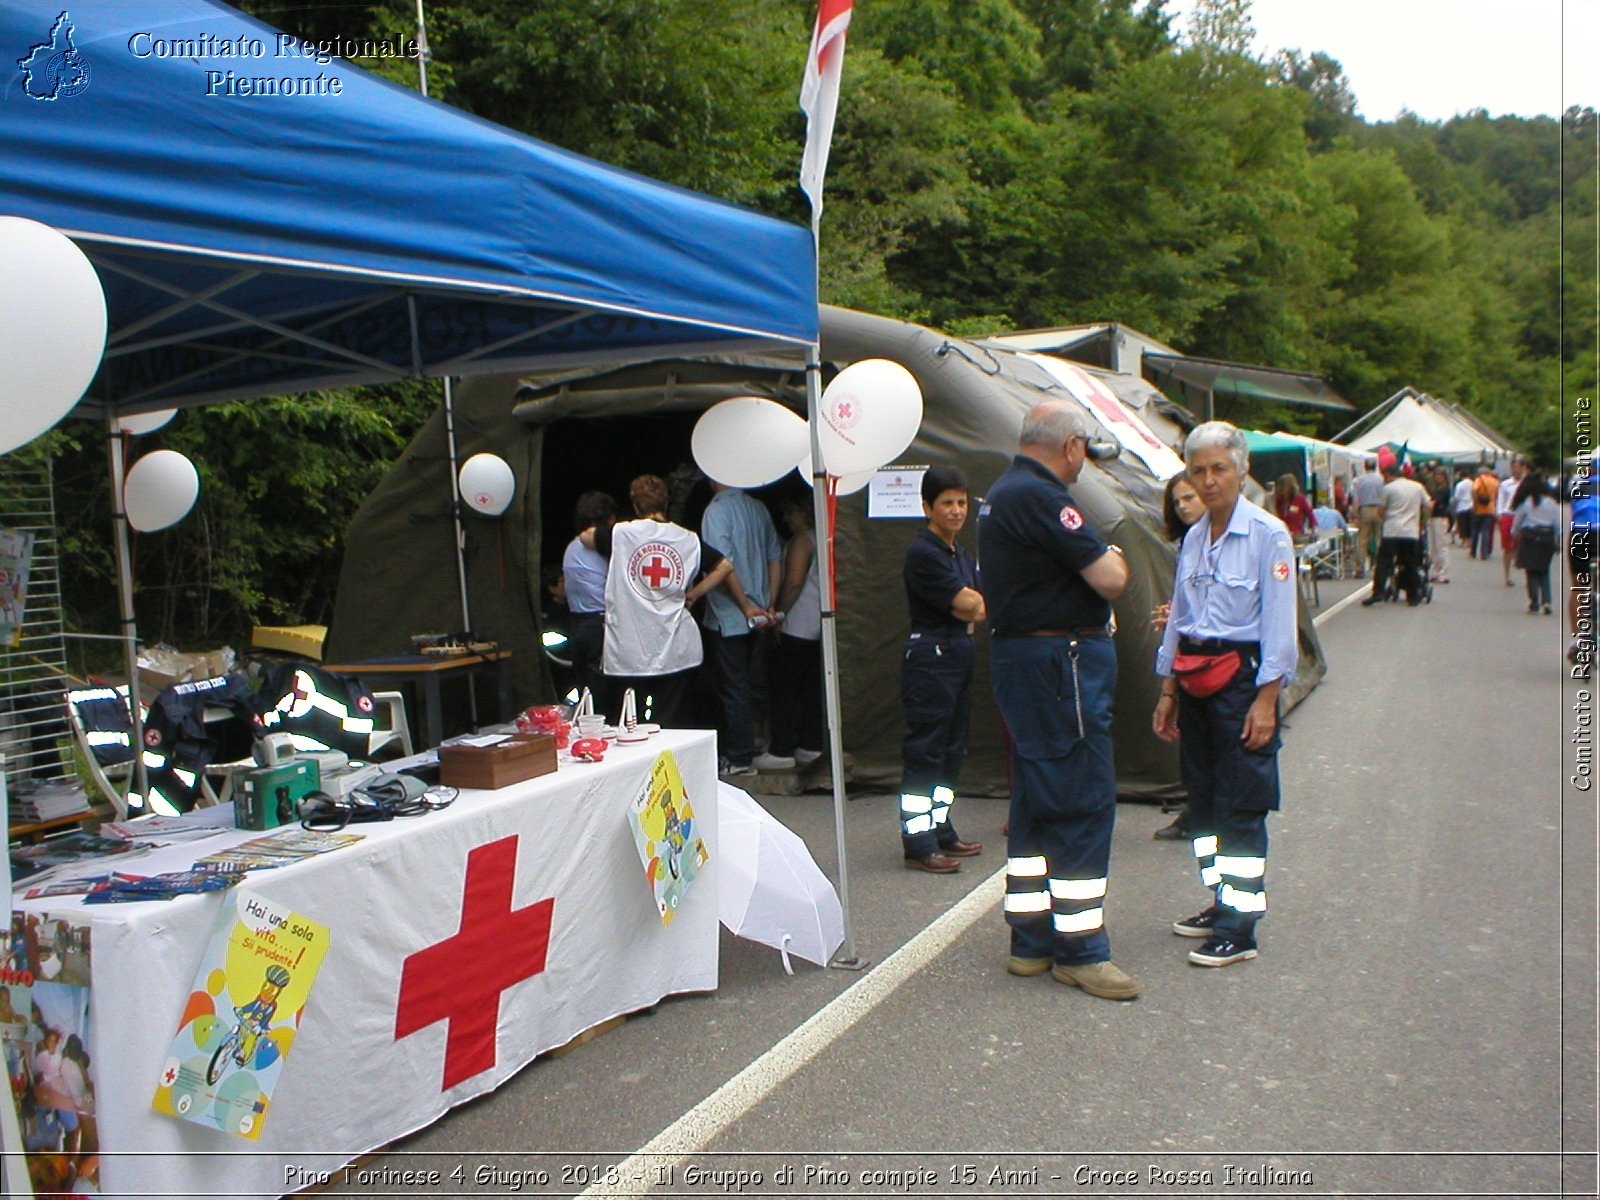
[[755, 654], [766, 646], [765, 632], [776, 622], [773, 602], [782, 576], [784, 547], [778, 542], [773, 515], [758, 499], [712, 480], [710, 504], [701, 517], [701, 541], [733, 560], [744, 586], [746, 602], [726, 586], [706, 594], [706, 658], [717, 677], [722, 720], [717, 723], [720, 749], [728, 763], [723, 774], [755, 774], [755, 698], [750, 675]]

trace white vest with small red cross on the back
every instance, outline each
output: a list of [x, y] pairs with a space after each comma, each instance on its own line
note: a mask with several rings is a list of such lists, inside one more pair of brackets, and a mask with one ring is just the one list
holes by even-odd
[[619, 522], [605, 581], [606, 675], [670, 675], [701, 664], [683, 594], [699, 574], [699, 538], [672, 522]]

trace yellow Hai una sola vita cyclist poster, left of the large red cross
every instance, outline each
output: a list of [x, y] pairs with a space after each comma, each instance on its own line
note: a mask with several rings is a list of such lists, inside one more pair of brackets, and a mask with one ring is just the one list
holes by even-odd
[[258, 1139], [328, 944], [326, 925], [248, 890], [232, 893], [150, 1107]]

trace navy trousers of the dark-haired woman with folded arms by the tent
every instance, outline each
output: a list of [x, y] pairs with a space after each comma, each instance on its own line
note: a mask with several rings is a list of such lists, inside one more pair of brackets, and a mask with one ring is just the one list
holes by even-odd
[[966, 760], [973, 693], [973, 638], [912, 634], [901, 658], [901, 845], [926, 858], [960, 842], [950, 806]]

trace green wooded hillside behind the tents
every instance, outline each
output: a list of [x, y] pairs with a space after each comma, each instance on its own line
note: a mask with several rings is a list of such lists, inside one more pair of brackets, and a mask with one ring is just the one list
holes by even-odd
[[[245, 8], [312, 40], [414, 35], [411, 0]], [[805, 221], [795, 94], [813, 13], [429, 3], [429, 91]], [[379, 66], [416, 86], [414, 62]], [[1595, 146], [1590, 109], [1363, 120], [1318, 48], [1253, 48], [1248, 0], [1202, 0], [1190, 29], [1133, 0], [862, 0], [822, 299], [965, 334], [1117, 320], [1187, 354], [1322, 373], [1363, 411], [1411, 384], [1554, 466], [1562, 413], [1595, 389]], [[147, 637], [326, 619], [344, 523], [435, 397], [408, 384], [184, 414], [160, 438], [200, 464], [202, 506], [141, 539]], [[66, 592], [82, 627], [110, 629], [99, 437], [69, 426], [53, 446]]]

